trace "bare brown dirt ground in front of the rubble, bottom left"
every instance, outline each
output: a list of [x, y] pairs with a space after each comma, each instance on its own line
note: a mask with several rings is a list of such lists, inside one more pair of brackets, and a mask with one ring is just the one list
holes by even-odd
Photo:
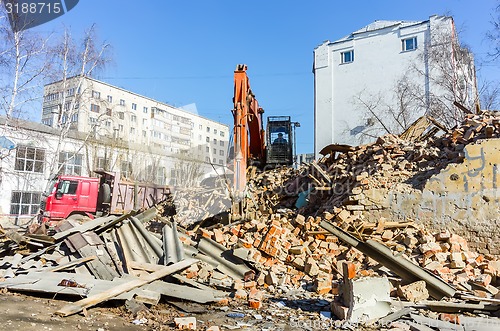
[[[124, 302], [120, 301], [114, 304], [107, 302], [89, 308], [85, 313], [68, 317], [54, 314], [70, 302], [52, 297], [3, 292], [0, 294], [0, 331], [176, 330], [174, 318], [189, 316], [196, 317], [197, 330], [205, 330], [214, 325], [219, 326], [221, 330], [232, 328], [273, 331], [304, 329], [291, 325], [289, 319], [284, 315], [266, 318], [264, 313], [264, 318], [257, 317], [260, 316], [259, 311], [242, 309], [238, 304], [219, 307], [217, 305], [177, 303], [187, 310], [183, 311], [170, 303], [161, 302], [154, 307], [133, 314], [125, 308]], [[235, 312], [236, 314], [233, 314], [235, 316], [228, 316]], [[306, 327], [305, 329], [310, 328]], [[313, 327], [313, 329], [316, 328]]]

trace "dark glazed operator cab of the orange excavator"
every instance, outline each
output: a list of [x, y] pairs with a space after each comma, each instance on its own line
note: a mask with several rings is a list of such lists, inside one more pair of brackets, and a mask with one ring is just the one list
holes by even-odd
[[293, 164], [293, 133], [290, 116], [269, 116], [266, 127], [269, 166], [289, 166]]

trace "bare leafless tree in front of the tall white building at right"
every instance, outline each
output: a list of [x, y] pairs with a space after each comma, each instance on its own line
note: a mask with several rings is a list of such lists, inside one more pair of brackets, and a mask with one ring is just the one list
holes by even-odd
[[353, 103], [363, 109], [366, 124], [350, 130], [358, 134], [360, 142], [380, 134], [400, 134], [424, 114], [454, 127], [465, 115], [455, 102], [471, 111], [479, 108], [471, 51], [458, 42], [453, 28], [435, 29], [431, 35], [409, 70], [396, 77], [390, 91], [371, 95], [363, 91], [355, 96]]

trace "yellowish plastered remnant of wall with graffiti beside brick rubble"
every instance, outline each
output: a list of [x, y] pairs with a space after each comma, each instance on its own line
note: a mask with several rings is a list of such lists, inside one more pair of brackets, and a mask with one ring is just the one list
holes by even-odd
[[365, 210], [365, 217], [414, 219], [433, 230], [452, 230], [478, 252], [500, 254], [500, 139], [469, 144], [464, 156], [463, 163], [429, 178], [423, 190], [365, 190], [368, 200], [384, 208]]

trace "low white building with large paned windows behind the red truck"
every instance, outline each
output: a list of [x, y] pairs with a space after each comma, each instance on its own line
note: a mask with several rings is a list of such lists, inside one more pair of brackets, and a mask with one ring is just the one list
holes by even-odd
[[[209, 127], [208, 132], [206, 125], [213, 124], [205, 121], [198, 124], [204, 128], [203, 147], [221, 149], [220, 132], [215, 133], [214, 127]], [[63, 136], [61, 129], [36, 122], [11, 119], [7, 126], [5, 123], [5, 118], [0, 117], [2, 226], [25, 224], [37, 214], [43, 192], [56, 174], [95, 177], [94, 170], [104, 169], [121, 178], [170, 185], [175, 190], [196, 185], [213, 171], [207, 162], [167, 155], [158, 146], [113, 137], [89, 137], [79, 131], [69, 131]], [[212, 140], [206, 143], [205, 137], [218, 139], [217, 146]]]

